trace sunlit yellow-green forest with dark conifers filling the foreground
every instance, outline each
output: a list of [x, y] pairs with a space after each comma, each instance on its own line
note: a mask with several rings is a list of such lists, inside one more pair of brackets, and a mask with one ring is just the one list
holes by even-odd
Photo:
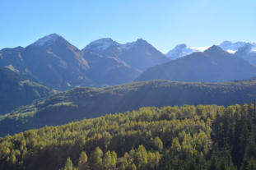
[[0, 169], [255, 169], [253, 104], [140, 108], [0, 140]]

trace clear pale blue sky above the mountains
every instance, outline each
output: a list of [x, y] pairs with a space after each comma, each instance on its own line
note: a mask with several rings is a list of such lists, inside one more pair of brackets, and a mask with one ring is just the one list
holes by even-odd
[[83, 48], [110, 37], [146, 39], [166, 53], [176, 44], [256, 42], [255, 0], [1, 0], [0, 48], [61, 34]]

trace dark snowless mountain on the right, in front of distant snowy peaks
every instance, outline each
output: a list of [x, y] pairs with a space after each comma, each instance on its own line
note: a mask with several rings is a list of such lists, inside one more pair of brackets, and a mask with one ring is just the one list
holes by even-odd
[[256, 76], [256, 67], [214, 45], [144, 71], [137, 80], [216, 82], [244, 80]]

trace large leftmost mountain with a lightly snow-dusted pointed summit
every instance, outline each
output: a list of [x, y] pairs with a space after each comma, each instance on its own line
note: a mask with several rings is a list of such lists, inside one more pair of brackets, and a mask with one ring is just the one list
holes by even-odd
[[89, 66], [81, 51], [58, 34], [49, 34], [26, 48], [2, 49], [0, 56], [0, 66], [13, 67], [51, 88], [94, 85], [86, 77]]

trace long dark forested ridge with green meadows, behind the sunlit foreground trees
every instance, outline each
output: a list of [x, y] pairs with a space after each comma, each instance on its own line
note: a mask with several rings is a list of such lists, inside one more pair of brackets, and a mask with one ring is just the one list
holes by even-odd
[[256, 98], [256, 80], [185, 83], [153, 80], [104, 88], [75, 88], [0, 116], [0, 136], [45, 125], [61, 125], [143, 106], [248, 103]]

